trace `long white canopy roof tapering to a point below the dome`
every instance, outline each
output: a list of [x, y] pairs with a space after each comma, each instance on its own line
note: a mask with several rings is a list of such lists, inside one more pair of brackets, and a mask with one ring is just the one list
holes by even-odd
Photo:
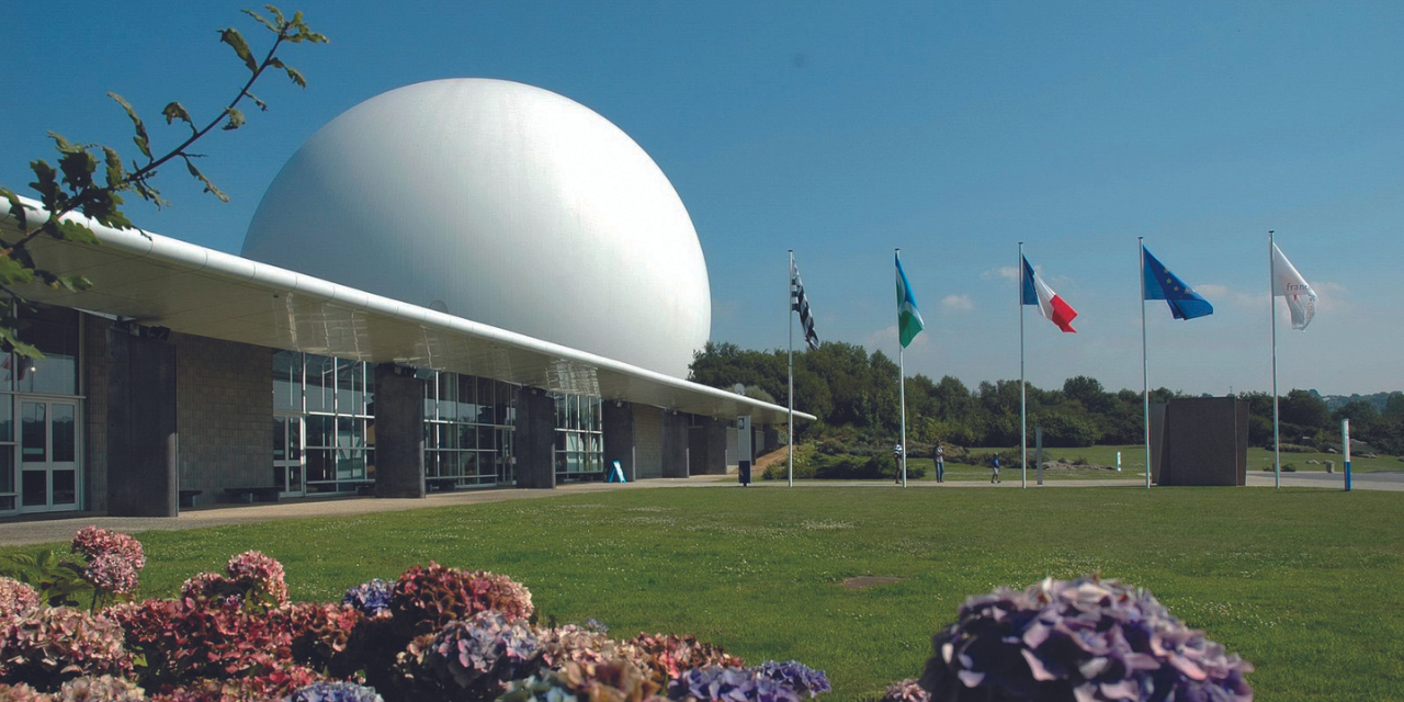
[[[94, 286], [67, 292], [35, 285], [24, 291], [29, 299], [271, 348], [452, 371], [716, 418], [788, 420], [776, 404], [177, 239], [87, 223], [101, 246], [37, 239], [31, 250], [39, 265], [87, 275]], [[0, 229], [7, 237], [15, 233], [8, 213], [0, 216]], [[795, 417], [814, 420], [799, 411]]]

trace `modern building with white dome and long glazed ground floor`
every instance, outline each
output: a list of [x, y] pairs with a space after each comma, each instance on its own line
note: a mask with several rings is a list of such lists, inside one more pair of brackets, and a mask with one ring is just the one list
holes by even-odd
[[724, 473], [739, 416], [758, 448], [789, 420], [685, 380], [710, 333], [687, 209], [541, 88], [354, 107], [284, 167], [243, 256], [93, 229], [32, 247], [94, 286], [24, 291], [45, 358], [0, 362], [0, 517]]

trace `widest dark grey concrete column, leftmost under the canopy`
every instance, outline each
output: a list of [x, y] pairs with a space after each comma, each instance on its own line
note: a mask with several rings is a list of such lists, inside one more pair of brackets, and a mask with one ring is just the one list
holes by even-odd
[[107, 514], [176, 517], [176, 347], [107, 333]]

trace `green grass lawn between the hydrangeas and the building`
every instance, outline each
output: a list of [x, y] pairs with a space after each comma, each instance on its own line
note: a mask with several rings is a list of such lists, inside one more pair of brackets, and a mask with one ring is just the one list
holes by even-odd
[[[709, 487], [139, 536], [147, 597], [246, 549], [281, 560], [296, 600], [432, 559], [522, 581], [542, 621], [800, 660], [835, 702], [918, 675], [970, 594], [1099, 571], [1252, 661], [1258, 699], [1356, 702], [1404, 699], [1401, 507], [1293, 489]], [[844, 588], [854, 576], [901, 581]]]

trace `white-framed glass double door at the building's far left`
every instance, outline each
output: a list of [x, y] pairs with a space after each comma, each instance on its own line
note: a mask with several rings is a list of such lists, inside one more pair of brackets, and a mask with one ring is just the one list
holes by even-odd
[[79, 508], [79, 406], [20, 402], [20, 511]]

